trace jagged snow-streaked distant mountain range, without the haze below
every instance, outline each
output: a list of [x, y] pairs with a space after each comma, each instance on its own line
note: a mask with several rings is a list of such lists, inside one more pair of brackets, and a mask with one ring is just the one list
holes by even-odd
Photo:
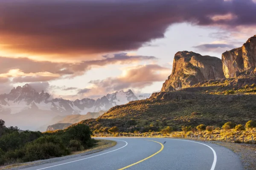
[[54, 111], [60, 115], [86, 114], [87, 112], [108, 111], [116, 105], [123, 105], [130, 101], [146, 99], [146, 96], [135, 96], [131, 90], [116, 91], [100, 99], [77, 99], [75, 101], [62, 98], [51, 99], [48, 93], [38, 93], [28, 84], [13, 88], [9, 94], [0, 95], [0, 113], [15, 114], [30, 109]]

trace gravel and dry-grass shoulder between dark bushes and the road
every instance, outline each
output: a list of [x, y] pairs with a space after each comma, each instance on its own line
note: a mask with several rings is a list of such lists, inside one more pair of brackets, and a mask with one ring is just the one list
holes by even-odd
[[70, 159], [70, 158], [75, 158], [78, 156], [84, 156], [84, 155], [88, 155], [91, 153], [100, 152], [102, 150], [109, 149], [116, 145], [115, 141], [105, 140], [105, 139], [97, 139], [97, 140], [99, 142], [97, 143], [96, 146], [94, 146], [90, 149], [87, 149], [87, 150], [74, 152], [68, 156], [62, 156], [62, 157], [57, 157], [57, 158], [52, 158], [52, 159], [38, 160], [38, 161], [32, 161], [32, 162], [26, 162], [26, 163], [20, 163], [20, 164], [11, 164], [11, 165], [0, 167], [0, 170], [20, 170], [22, 168], [33, 167], [33, 166], [47, 164], [47, 163], [51, 163], [51, 162], [55, 162], [55, 161], [62, 161], [65, 159]]

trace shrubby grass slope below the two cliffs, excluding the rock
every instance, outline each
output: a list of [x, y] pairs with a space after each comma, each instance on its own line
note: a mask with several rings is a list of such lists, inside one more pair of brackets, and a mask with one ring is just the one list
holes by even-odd
[[117, 126], [122, 132], [200, 124], [221, 127], [228, 121], [244, 124], [256, 119], [255, 80], [256, 75], [210, 80], [180, 91], [160, 92], [151, 99], [115, 106], [97, 119], [79, 123], [101, 131]]

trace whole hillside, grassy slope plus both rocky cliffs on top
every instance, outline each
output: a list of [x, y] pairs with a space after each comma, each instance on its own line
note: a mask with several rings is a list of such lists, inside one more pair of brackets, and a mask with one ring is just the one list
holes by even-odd
[[[222, 67], [221, 64], [214, 66], [215, 62], [207, 62], [208, 66], [202, 62], [212, 59], [219, 62], [220, 59], [188, 51], [177, 52], [172, 74], [161, 92], [152, 94], [149, 99], [115, 106], [97, 119], [79, 123], [98, 131], [117, 126], [121, 132], [148, 132], [158, 131], [164, 126], [176, 130], [182, 126], [205, 124], [221, 127], [228, 121], [244, 124], [256, 120], [255, 64], [247, 62], [256, 58], [255, 40], [256, 36], [251, 37], [243, 45], [243, 54], [236, 52], [240, 48], [223, 53]], [[231, 55], [230, 58], [227, 55]], [[201, 64], [192, 65], [193, 58], [200, 58]], [[235, 63], [233, 59], [238, 60]], [[206, 78], [203, 72], [209, 77]]]

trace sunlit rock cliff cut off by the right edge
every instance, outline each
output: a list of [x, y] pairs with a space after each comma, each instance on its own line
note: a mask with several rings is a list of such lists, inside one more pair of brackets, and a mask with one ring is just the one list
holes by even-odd
[[250, 37], [240, 48], [222, 54], [225, 77], [256, 73], [256, 35]]

